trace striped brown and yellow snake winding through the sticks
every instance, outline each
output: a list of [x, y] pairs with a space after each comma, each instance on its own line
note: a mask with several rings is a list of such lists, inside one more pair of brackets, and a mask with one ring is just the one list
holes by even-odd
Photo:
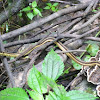
[[[38, 48], [40, 46], [42, 46], [43, 44], [47, 43], [47, 42], [51, 42], [54, 41], [55, 38], [53, 37], [48, 37], [46, 39], [44, 39], [40, 44], [36, 45], [34, 48], [32, 48], [30, 51], [28, 51], [26, 55], [28, 55], [29, 53], [31, 53], [35, 48]], [[62, 51], [67, 51], [68, 49], [61, 43], [61, 42], [54, 42]], [[10, 57], [18, 57], [20, 54], [14, 54], [14, 53], [0, 53], [0, 56], [10, 56]], [[78, 58], [76, 58], [72, 53], [66, 53], [66, 55], [68, 57], [70, 57], [72, 60], [74, 60], [76, 63], [83, 65], [83, 66], [94, 66], [94, 65], [98, 65], [100, 66], [100, 62], [99, 61], [90, 61], [90, 62], [84, 62], [79, 60]]]

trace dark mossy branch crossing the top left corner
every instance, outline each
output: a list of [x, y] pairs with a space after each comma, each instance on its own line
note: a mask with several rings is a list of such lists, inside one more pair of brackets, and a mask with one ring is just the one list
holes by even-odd
[[0, 25], [3, 24], [7, 19], [9, 19], [9, 17], [24, 8], [25, 5], [28, 4], [30, 1], [34, 0], [16, 0], [12, 4], [10, 4], [7, 8], [5, 8], [5, 11], [2, 11], [0, 13]]

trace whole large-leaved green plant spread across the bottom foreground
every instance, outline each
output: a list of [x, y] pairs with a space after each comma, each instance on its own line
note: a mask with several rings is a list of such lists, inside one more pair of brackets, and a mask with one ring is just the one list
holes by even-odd
[[[31, 89], [26, 91], [33, 100], [95, 100], [97, 98], [78, 90], [66, 92], [64, 86], [56, 83], [63, 71], [64, 64], [61, 58], [51, 50], [44, 59], [41, 73], [33, 65], [28, 76], [28, 86]], [[22, 88], [7, 88], [0, 92], [0, 100], [30, 100], [26, 91]], [[44, 95], [46, 93], [48, 95]]]

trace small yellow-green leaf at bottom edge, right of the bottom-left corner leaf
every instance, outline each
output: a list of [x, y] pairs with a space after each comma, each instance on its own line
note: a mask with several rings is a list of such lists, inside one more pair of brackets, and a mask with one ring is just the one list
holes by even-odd
[[44, 100], [43, 95], [36, 91], [27, 90], [33, 100]]

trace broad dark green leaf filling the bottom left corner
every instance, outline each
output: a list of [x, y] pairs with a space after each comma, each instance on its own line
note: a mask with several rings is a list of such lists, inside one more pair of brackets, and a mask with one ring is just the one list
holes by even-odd
[[0, 92], [0, 100], [29, 100], [22, 88], [7, 88]]

